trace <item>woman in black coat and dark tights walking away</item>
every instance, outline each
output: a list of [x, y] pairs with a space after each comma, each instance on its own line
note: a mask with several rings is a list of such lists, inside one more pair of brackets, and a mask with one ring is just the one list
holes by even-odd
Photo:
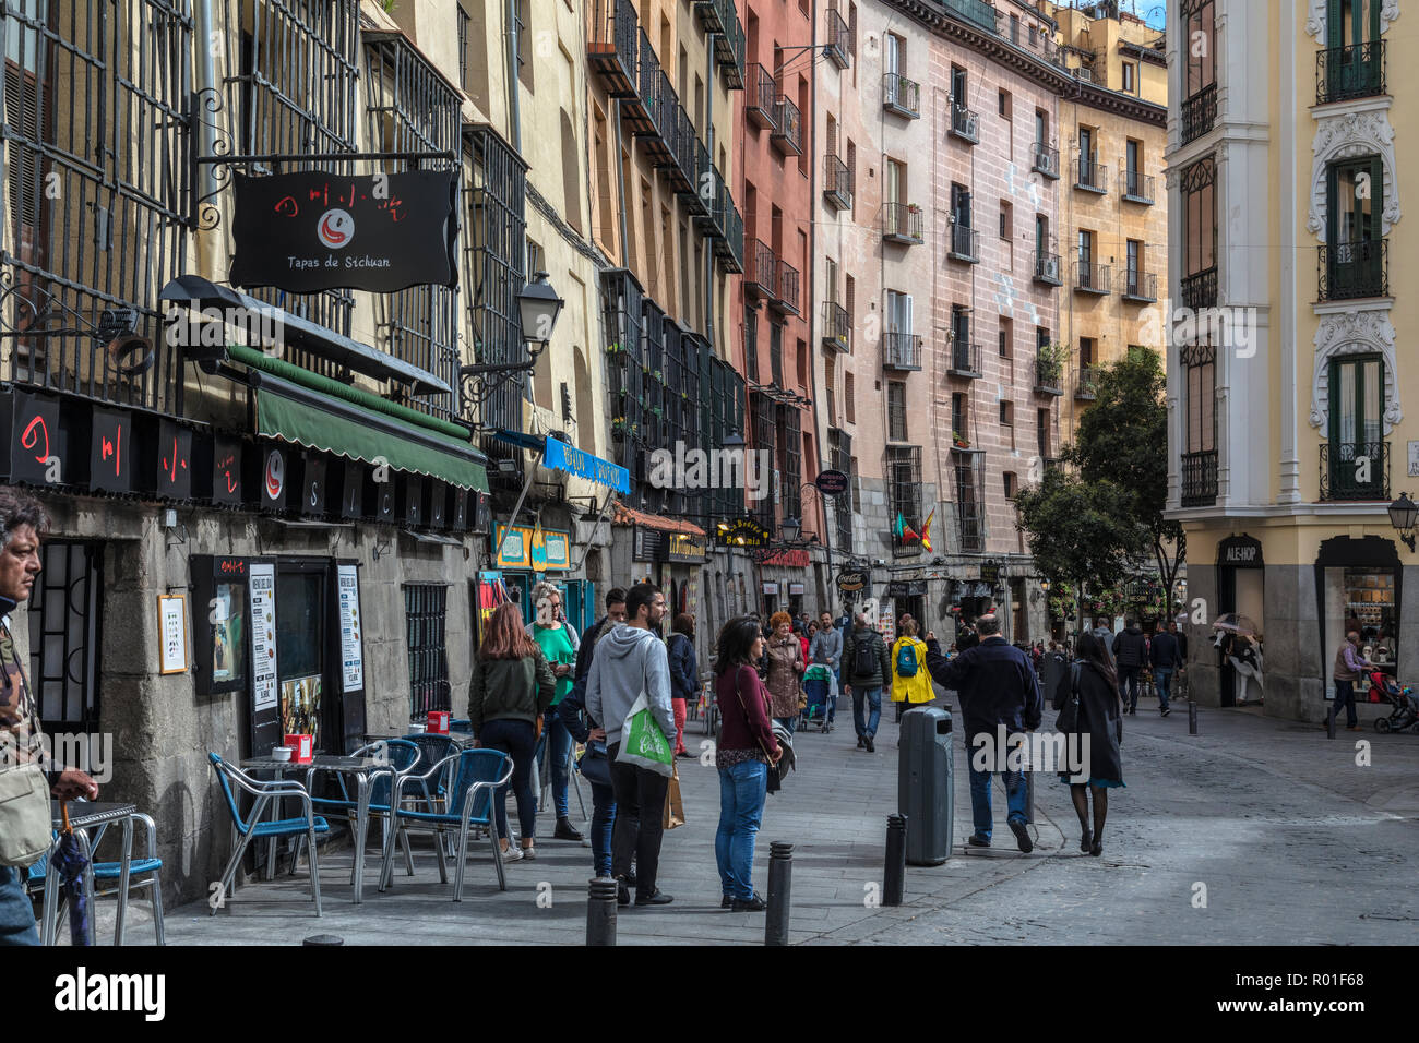
[[[1124, 762], [1118, 744], [1122, 738], [1122, 702], [1118, 695], [1118, 675], [1104, 646], [1091, 633], [1080, 634], [1078, 661], [1060, 675], [1054, 687], [1054, 708], [1060, 711], [1056, 727], [1069, 739], [1067, 749], [1084, 752], [1084, 738], [1088, 739], [1088, 758], [1080, 765], [1083, 775], [1060, 772], [1060, 782], [1069, 783], [1078, 815], [1078, 850], [1090, 854], [1104, 853], [1104, 819], [1108, 817], [1108, 790], [1124, 785]], [[1078, 675], [1078, 705], [1071, 707], [1073, 677]], [[1070, 719], [1073, 718], [1073, 719]], [[1094, 829], [1088, 827], [1088, 790], [1094, 790]]]

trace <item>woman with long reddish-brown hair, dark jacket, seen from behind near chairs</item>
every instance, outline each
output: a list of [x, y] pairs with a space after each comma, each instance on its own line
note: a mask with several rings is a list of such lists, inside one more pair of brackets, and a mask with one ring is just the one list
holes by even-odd
[[492, 809], [498, 843], [509, 861], [535, 859], [536, 802], [532, 796], [532, 755], [536, 724], [556, 697], [556, 677], [541, 646], [522, 626], [518, 606], [499, 605], [488, 619], [488, 631], [473, 663], [468, 683], [468, 718], [480, 746], [501, 749], [512, 758], [512, 792], [518, 796], [522, 850], [508, 846], [508, 788], [498, 786]]

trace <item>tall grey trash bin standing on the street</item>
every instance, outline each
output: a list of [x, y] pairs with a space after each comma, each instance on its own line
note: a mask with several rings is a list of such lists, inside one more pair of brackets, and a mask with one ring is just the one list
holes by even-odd
[[902, 714], [897, 810], [907, 816], [911, 866], [939, 866], [951, 857], [954, 759], [949, 711], [921, 707]]

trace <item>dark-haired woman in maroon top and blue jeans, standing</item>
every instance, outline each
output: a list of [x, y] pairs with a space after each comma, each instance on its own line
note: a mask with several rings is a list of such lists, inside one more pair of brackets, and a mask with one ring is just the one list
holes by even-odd
[[721, 908], [761, 912], [766, 903], [753, 890], [753, 840], [763, 817], [769, 772], [783, 756], [769, 718], [769, 690], [753, 664], [763, 656], [758, 620], [735, 619], [719, 631], [715, 697], [719, 704], [719, 864]]

